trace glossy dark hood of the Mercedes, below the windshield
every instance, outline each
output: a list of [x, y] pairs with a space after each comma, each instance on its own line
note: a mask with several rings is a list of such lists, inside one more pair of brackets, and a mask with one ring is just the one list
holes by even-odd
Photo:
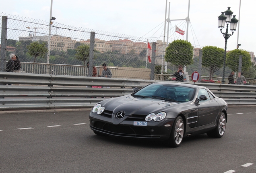
[[107, 99], [101, 102], [105, 110], [113, 111], [113, 114], [119, 111], [124, 111], [125, 115], [148, 115], [149, 113], [159, 113], [165, 108], [169, 109], [174, 105], [179, 105], [178, 102], [163, 101], [160, 99], [147, 99], [142, 97], [132, 97], [131, 95], [122, 96], [114, 99]]

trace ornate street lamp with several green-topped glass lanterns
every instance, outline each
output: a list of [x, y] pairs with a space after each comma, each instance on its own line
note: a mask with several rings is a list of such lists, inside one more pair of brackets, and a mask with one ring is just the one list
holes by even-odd
[[[225, 14], [225, 15], [224, 15]], [[221, 12], [221, 15], [218, 17], [219, 18], [219, 28], [221, 30], [221, 34], [223, 34], [224, 38], [225, 38], [225, 52], [224, 52], [224, 62], [223, 62], [223, 76], [222, 76], [222, 83], [225, 83], [225, 65], [226, 65], [226, 54], [227, 54], [227, 39], [229, 39], [229, 37], [231, 35], [233, 35], [238, 20], [235, 18], [235, 15], [233, 15], [232, 18], [232, 14], [233, 12], [230, 10], [230, 7], [228, 7], [228, 9], [225, 12]], [[222, 29], [225, 27], [225, 23], [227, 24], [226, 26], [226, 32], [222, 32]], [[230, 23], [230, 30], [232, 32], [232, 34], [229, 34], [228, 32], [228, 26]]]

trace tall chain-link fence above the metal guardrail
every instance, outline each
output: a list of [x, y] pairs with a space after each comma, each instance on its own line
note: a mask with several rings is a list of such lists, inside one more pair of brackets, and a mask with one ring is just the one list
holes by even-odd
[[[228, 83], [234, 71], [231, 80], [235, 81], [240, 76], [238, 72], [243, 72], [247, 82], [255, 83], [254, 52], [238, 49], [227, 52], [224, 65], [224, 49], [213, 46], [195, 48], [184, 40], [175, 40], [167, 48], [162, 40], [77, 28], [54, 20], [49, 23], [15, 15], [0, 16], [2, 71], [12, 68], [9, 71], [101, 76], [105, 63], [112, 77], [117, 78], [151, 79], [153, 70], [155, 80], [192, 81], [190, 75], [198, 71], [198, 82], [221, 83], [224, 79]], [[91, 32], [95, 32], [93, 38]], [[156, 42], [154, 57], [149, 54], [148, 42], [151, 48]], [[17, 63], [11, 63], [14, 62], [10, 60], [11, 54], [18, 57], [20, 69], [15, 67]], [[148, 55], [154, 63], [149, 63]], [[87, 68], [89, 60], [91, 72]], [[183, 67], [182, 72], [178, 70], [179, 65]]]

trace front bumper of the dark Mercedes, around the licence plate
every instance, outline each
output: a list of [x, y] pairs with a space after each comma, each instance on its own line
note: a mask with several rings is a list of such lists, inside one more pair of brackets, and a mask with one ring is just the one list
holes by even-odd
[[[144, 139], [169, 139], [171, 127], [175, 119], [164, 119], [160, 122], [149, 121], [147, 126], [134, 126], [134, 119], [125, 119], [120, 124], [112, 123], [111, 117], [90, 113], [90, 127], [93, 131], [118, 137], [132, 137]], [[145, 119], [142, 119], [145, 121]]]

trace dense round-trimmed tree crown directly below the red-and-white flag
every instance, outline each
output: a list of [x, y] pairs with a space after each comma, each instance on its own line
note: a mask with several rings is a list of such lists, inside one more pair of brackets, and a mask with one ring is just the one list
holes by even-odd
[[192, 64], [193, 46], [186, 40], [174, 40], [166, 48], [165, 61], [175, 66]]

